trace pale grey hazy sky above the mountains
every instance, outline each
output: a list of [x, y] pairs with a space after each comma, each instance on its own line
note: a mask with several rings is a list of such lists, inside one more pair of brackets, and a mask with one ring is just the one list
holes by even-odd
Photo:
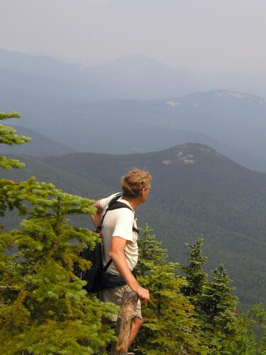
[[0, 0], [0, 48], [266, 74], [266, 0]]

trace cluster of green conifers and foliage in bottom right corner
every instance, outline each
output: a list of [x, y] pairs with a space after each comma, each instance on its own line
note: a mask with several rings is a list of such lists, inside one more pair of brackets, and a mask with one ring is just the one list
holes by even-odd
[[[203, 239], [187, 247], [191, 250], [187, 266], [180, 266], [188, 285], [184, 295], [195, 306], [196, 320], [208, 348], [206, 354], [266, 354], [266, 313], [262, 305], [239, 316], [238, 297], [232, 295], [231, 280], [222, 264], [212, 271], [211, 280], [204, 273], [206, 258], [201, 254]], [[260, 325], [260, 338], [256, 338]], [[200, 353], [201, 354], [201, 353]]]

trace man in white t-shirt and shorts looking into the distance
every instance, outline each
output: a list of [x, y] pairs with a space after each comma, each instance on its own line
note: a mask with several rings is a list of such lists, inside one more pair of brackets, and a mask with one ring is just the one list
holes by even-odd
[[[138, 234], [135, 221], [135, 209], [143, 204], [150, 192], [151, 175], [143, 170], [132, 170], [121, 178], [121, 188], [123, 195], [118, 202], [123, 202], [130, 208], [113, 209], [106, 213], [101, 228], [103, 238], [103, 263], [104, 266], [112, 260], [106, 273], [121, 275], [126, 281], [126, 285], [115, 288], [106, 288], [100, 291], [100, 300], [121, 304], [121, 299], [125, 290], [131, 289], [138, 293], [141, 300], [148, 301], [149, 291], [141, 287], [135, 279], [132, 271], [138, 262]], [[102, 215], [106, 212], [109, 202], [115, 196], [111, 195], [102, 200], [96, 201], [97, 208], [95, 215], [92, 215], [94, 226], [101, 224]], [[117, 315], [111, 319], [116, 322]], [[131, 337], [129, 346], [138, 334], [143, 318], [141, 315], [140, 300], [138, 300], [135, 317], [132, 321]]]

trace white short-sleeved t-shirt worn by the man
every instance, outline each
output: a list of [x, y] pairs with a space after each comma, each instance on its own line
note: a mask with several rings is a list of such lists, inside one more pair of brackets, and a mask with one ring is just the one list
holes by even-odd
[[[100, 207], [103, 209], [102, 215], [104, 215], [109, 202], [116, 195], [117, 194], [113, 194], [100, 201]], [[131, 205], [122, 198], [119, 198], [118, 201], [128, 204], [128, 206], [131, 207]], [[109, 251], [111, 249], [111, 239], [113, 236], [118, 236], [126, 239], [126, 246], [124, 249], [126, 261], [131, 271], [135, 268], [138, 263], [138, 234], [133, 231], [133, 226], [137, 228], [135, 221], [135, 214], [128, 208], [113, 209], [112, 211], [108, 211], [106, 213], [103, 226], [101, 227], [101, 234], [103, 238], [102, 256], [104, 266], [110, 260]], [[113, 263], [111, 263], [107, 269], [107, 272], [115, 275], [119, 274]]]

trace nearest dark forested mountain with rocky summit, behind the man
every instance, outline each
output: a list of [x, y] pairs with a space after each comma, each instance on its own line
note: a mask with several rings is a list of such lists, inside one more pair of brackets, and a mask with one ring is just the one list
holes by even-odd
[[[211, 268], [225, 263], [242, 305], [266, 304], [265, 174], [192, 143], [152, 153], [74, 153], [21, 160], [26, 169], [4, 172], [4, 177], [21, 180], [37, 175], [91, 198], [118, 191], [119, 178], [133, 167], [150, 170], [152, 191], [137, 212], [138, 224], [148, 222], [170, 258], [180, 262], [186, 254], [184, 243], [204, 234]], [[77, 221], [90, 226], [87, 217]]]

